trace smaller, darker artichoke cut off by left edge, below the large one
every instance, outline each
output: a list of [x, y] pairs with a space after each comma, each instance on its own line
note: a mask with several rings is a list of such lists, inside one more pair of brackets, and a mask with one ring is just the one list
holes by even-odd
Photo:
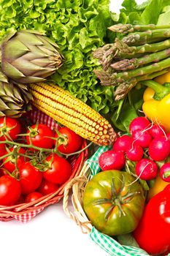
[[9, 83], [8, 78], [0, 72], [0, 116], [22, 116], [31, 110], [31, 99], [26, 85]]

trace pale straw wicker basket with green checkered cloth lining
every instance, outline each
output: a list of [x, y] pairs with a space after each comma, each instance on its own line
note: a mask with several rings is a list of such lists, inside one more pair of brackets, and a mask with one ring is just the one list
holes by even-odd
[[[143, 249], [135, 246], [124, 246], [118, 243], [115, 239], [100, 233], [91, 224], [82, 208], [82, 195], [85, 190], [85, 185], [91, 177], [91, 170], [87, 162], [82, 167], [80, 175], [73, 178], [64, 189], [63, 196], [63, 211], [66, 215], [73, 219], [80, 226], [82, 233], [89, 235], [90, 239], [101, 247], [108, 255], [112, 256], [146, 256], [148, 255]], [[70, 200], [72, 204], [70, 205]]]

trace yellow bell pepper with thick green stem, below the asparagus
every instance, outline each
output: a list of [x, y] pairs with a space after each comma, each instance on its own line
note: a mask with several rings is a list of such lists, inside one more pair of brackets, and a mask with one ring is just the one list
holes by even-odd
[[148, 86], [144, 91], [142, 110], [152, 122], [162, 124], [170, 130], [170, 84], [161, 85], [154, 80], [143, 81]]

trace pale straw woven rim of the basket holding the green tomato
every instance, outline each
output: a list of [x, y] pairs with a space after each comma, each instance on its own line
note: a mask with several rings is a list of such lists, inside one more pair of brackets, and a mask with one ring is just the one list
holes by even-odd
[[[93, 225], [85, 214], [82, 208], [82, 195], [85, 190], [85, 185], [88, 183], [90, 178], [90, 167], [87, 162], [82, 166], [79, 176], [72, 178], [64, 188], [63, 195], [63, 211], [66, 215], [74, 220], [82, 233], [90, 233]], [[69, 207], [69, 199], [72, 200], [73, 209]]]

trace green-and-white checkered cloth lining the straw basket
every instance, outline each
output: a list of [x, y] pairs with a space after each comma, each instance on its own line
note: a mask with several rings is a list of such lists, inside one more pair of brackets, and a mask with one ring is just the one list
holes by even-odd
[[[104, 151], [109, 150], [110, 146], [101, 146], [97, 149], [96, 153], [93, 154], [92, 157], [90, 157], [88, 160], [86, 160], [86, 163], [88, 163], [88, 166], [91, 169], [91, 177], [92, 178], [96, 173], [98, 173], [101, 169], [98, 166], [98, 157], [103, 153]], [[92, 228], [90, 232], [90, 239], [94, 241], [98, 246], [100, 246], [102, 249], [104, 249], [105, 252], [107, 252], [109, 255], [113, 256], [144, 256], [148, 255], [147, 252], [145, 252], [143, 249], [140, 249], [139, 247], [135, 246], [126, 246], [121, 245], [115, 239], [104, 235], [103, 233], [96, 230], [95, 227]], [[170, 254], [168, 255], [170, 256]]]

